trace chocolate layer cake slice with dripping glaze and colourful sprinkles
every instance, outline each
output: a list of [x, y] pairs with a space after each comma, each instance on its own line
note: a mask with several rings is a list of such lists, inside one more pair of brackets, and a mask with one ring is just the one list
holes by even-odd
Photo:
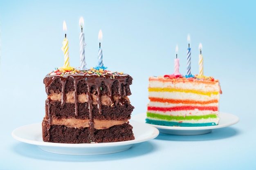
[[78, 144], [135, 139], [128, 121], [134, 109], [128, 98], [130, 75], [94, 68], [58, 69], [43, 82], [47, 93], [43, 141]]

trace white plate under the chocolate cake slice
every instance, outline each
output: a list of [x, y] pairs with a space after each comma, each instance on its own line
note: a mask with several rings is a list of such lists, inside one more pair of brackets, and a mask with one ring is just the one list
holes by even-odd
[[137, 121], [130, 121], [133, 126], [134, 140], [97, 143], [97, 144], [59, 144], [44, 142], [42, 138], [41, 123], [29, 124], [16, 128], [12, 132], [14, 139], [25, 142], [27, 144], [37, 145], [40, 149], [46, 152], [52, 152], [64, 155], [101, 155], [121, 152], [128, 150], [133, 144], [138, 144], [150, 139], [154, 139], [159, 135], [157, 128], [148, 124]]

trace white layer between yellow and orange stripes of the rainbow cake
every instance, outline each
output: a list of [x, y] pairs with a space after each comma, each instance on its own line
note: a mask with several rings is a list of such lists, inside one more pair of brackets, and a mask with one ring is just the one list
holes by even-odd
[[157, 98], [164, 98], [164, 99], [177, 99], [177, 100], [186, 100], [186, 99], [193, 99], [199, 101], [209, 101], [213, 99], [220, 99], [220, 95], [200, 95], [196, 93], [182, 93], [182, 92], [155, 92], [150, 91], [148, 92], [148, 97], [157, 97]]

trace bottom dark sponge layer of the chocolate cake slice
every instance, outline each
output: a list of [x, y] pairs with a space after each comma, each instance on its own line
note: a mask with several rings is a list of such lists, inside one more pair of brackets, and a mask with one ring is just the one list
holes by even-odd
[[63, 125], [49, 125], [43, 121], [43, 141], [55, 143], [117, 142], [135, 139], [132, 126], [128, 123], [108, 129], [69, 128]]

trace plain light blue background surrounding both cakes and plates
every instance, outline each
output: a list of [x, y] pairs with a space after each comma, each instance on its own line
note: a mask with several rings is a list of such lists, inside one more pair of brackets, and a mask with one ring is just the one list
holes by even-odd
[[[59, 164], [63, 168], [76, 165], [79, 169], [86, 165], [109, 169], [111, 161], [117, 158], [117, 164], [130, 165], [124, 169], [136, 168], [136, 163], [151, 169], [159, 160], [154, 163], [150, 159], [160, 159], [159, 155], [162, 155], [164, 160], [169, 160], [166, 157], [175, 154], [180, 157], [172, 156], [170, 160], [173, 161], [168, 166], [176, 169], [255, 168], [255, 7], [256, 2], [249, 0], [0, 0], [0, 169], [43, 168], [41, 166], [45, 163], [48, 167]], [[92, 158], [54, 155], [28, 144], [20, 144], [11, 137], [11, 131], [22, 125], [42, 121], [46, 99], [43, 78], [55, 67], [63, 66], [63, 20], [67, 24], [70, 66], [80, 66], [81, 16], [85, 21], [83, 32], [87, 44], [87, 67], [97, 65], [98, 33], [101, 29], [104, 66], [111, 71], [124, 71], [133, 77], [130, 101], [135, 109], [132, 115], [146, 112], [148, 77], [173, 73], [176, 45], [179, 46], [180, 73], [186, 74], [189, 34], [191, 73], [199, 73], [198, 45], [202, 43], [204, 75], [220, 80], [223, 92], [220, 96], [220, 111], [237, 115], [240, 122], [231, 129], [214, 131], [217, 134], [213, 132], [189, 139], [180, 136], [169, 139], [168, 135], [160, 134], [157, 139], [139, 145], [141, 147], [136, 145], [126, 152], [110, 156], [94, 156], [99, 160], [97, 166]], [[229, 134], [231, 131], [234, 135]], [[211, 140], [216, 139], [214, 135], [219, 140]], [[161, 140], [163, 138], [170, 144]], [[163, 146], [172, 145], [173, 141], [178, 141], [175, 145], [179, 149], [169, 146], [169, 152], [157, 152], [152, 146], [161, 142]], [[202, 145], [199, 150], [207, 152], [206, 148], [211, 148], [209, 152], [213, 155], [199, 156], [195, 153], [197, 150], [190, 150], [188, 146], [192, 146], [191, 142], [194, 144], [195, 141]], [[181, 144], [185, 146], [184, 150]], [[153, 152], [145, 151], [143, 154], [143, 148], [149, 145], [156, 150], [155, 156]], [[20, 147], [25, 151], [20, 151]], [[141, 154], [137, 152], [139, 148], [142, 148]], [[190, 154], [195, 154], [195, 157], [186, 156]], [[55, 159], [51, 161], [47, 157]], [[84, 158], [89, 161], [83, 161]], [[185, 159], [188, 164], [182, 164], [179, 159]], [[203, 162], [207, 160], [208, 163]], [[166, 166], [157, 167], [164, 169]], [[115, 168], [118, 169], [112, 167]]]

